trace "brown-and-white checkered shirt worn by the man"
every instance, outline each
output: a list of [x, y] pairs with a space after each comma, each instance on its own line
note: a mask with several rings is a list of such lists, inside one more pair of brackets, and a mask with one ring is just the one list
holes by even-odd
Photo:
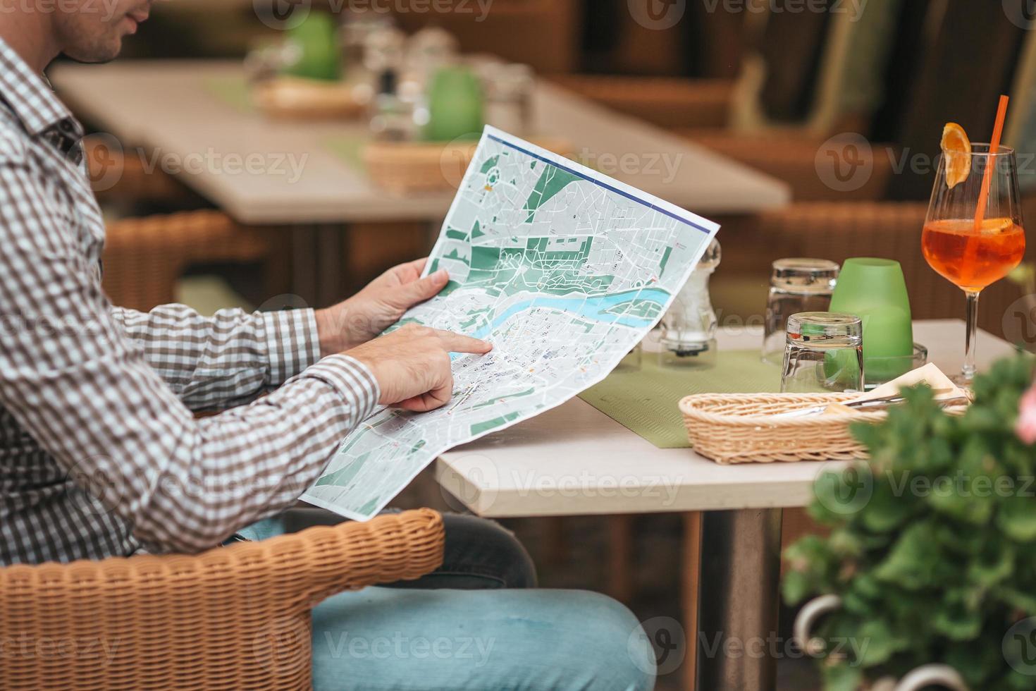
[[112, 307], [82, 136], [0, 40], [0, 565], [219, 545], [293, 503], [379, 396], [319, 359], [312, 310]]

